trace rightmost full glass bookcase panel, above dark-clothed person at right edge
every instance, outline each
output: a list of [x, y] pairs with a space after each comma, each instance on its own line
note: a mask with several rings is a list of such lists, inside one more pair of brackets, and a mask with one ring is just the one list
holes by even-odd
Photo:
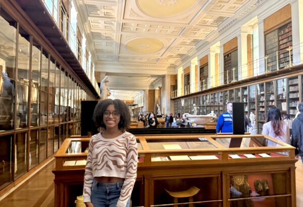
[[288, 78], [288, 114], [291, 120], [297, 113], [296, 106], [299, 104], [299, 79], [298, 76]]

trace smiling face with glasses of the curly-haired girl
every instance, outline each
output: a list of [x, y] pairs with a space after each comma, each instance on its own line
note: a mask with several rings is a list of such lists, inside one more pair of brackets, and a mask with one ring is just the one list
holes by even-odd
[[109, 105], [106, 111], [103, 113], [103, 123], [106, 129], [118, 128], [120, 122], [120, 114], [116, 111], [114, 105]]

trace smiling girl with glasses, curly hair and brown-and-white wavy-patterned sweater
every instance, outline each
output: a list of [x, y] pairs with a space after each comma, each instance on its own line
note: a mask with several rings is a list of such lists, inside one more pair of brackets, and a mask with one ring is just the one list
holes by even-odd
[[103, 131], [89, 142], [84, 203], [87, 207], [129, 206], [138, 161], [137, 141], [126, 132], [129, 109], [119, 99], [105, 99], [96, 105], [93, 121]]

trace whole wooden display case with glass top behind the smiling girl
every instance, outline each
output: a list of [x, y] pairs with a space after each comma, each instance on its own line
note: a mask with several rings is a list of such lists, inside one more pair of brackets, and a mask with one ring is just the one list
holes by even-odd
[[[56, 206], [70, 206], [82, 194], [88, 142], [68, 138], [57, 152]], [[137, 136], [137, 142], [132, 206], [296, 206], [294, 147], [269, 136], [160, 134]], [[199, 190], [189, 199], [192, 187]]]

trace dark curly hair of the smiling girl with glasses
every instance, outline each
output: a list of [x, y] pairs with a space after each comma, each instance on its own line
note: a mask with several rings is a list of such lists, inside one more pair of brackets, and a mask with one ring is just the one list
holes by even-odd
[[106, 129], [106, 125], [103, 123], [103, 114], [110, 105], [114, 105], [116, 111], [120, 114], [118, 128], [122, 132], [128, 130], [130, 125], [129, 108], [125, 102], [119, 99], [105, 99], [97, 103], [92, 116], [95, 126]]

